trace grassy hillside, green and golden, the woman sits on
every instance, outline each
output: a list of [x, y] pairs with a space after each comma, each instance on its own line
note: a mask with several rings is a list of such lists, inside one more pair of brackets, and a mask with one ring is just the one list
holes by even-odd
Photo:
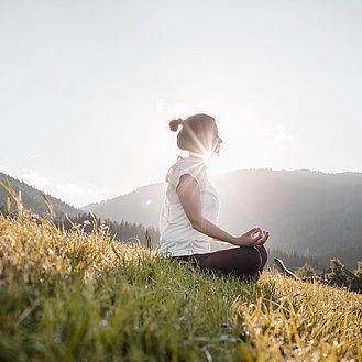
[[0, 216], [1, 361], [362, 361], [362, 296]]

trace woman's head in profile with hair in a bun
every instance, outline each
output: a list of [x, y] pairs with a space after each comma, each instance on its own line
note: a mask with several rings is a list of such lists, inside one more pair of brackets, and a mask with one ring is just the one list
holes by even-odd
[[179, 125], [182, 125], [177, 134], [179, 149], [202, 154], [219, 153], [222, 141], [211, 116], [194, 114], [186, 120], [177, 119], [169, 122], [173, 132], [177, 132]]

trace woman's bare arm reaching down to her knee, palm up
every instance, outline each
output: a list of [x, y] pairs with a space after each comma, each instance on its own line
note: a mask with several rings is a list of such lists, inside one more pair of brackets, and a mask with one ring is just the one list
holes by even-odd
[[235, 237], [205, 219], [201, 211], [200, 186], [193, 176], [182, 175], [176, 193], [195, 230], [238, 246], [256, 246], [266, 242], [268, 232], [260, 228], [253, 228], [244, 234]]

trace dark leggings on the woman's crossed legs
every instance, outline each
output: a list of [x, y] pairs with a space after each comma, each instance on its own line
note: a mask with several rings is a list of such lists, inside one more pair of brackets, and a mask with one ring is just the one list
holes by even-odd
[[234, 275], [256, 282], [263, 272], [267, 253], [263, 245], [232, 248], [207, 254], [174, 256], [177, 261], [194, 262], [201, 271], [212, 271], [220, 275]]

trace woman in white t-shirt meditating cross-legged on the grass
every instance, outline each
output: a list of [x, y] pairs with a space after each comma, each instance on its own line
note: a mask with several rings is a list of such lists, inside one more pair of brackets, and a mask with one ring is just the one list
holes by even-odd
[[[201, 270], [257, 281], [266, 263], [263, 244], [268, 232], [253, 228], [237, 237], [217, 226], [219, 200], [206, 173], [205, 155], [218, 154], [222, 140], [216, 121], [207, 114], [173, 120], [177, 145], [189, 152], [169, 168], [165, 201], [161, 211], [160, 250], [176, 260], [195, 261]], [[210, 252], [212, 239], [235, 248]]]

